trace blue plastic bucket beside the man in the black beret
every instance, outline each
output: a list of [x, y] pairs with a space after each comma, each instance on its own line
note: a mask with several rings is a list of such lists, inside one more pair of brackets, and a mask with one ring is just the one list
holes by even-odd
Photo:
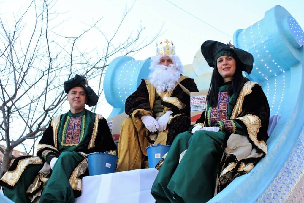
[[108, 152], [94, 152], [88, 154], [89, 175], [101, 175], [115, 172], [118, 156]]

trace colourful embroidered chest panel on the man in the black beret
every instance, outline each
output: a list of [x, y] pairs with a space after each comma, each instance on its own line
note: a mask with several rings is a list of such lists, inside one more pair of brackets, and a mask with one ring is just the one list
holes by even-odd
[[85, 115], [79, 117], [69, 117], [64, 124], [61, 145], [77, 146], [85, 132]]

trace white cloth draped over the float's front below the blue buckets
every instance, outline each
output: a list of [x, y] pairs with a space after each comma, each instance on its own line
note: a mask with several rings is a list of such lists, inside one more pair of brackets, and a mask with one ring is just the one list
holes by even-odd
[[83, 177], [81, 196], [75, 203], [155, 203], [150, 191], [157, 173], [149, 168]]

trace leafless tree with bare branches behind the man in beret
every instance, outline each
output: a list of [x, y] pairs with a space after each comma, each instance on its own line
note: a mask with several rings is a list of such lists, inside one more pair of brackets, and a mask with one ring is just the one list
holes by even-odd
[[[54, 10], [52, 0], [32, 1], [19, 17], [14, 16], [13, 25], [0, 16], [0, 147], [3, 154], [0, 177], [8, 170], [13, 149], [24, 145], [26, 153], [34, 152], [35, 140], [43, 134], [51, 118], [62, 111], [66, 96], [63, 81], [76, 73], [96, 78], [102, 93], [102, 79], [109, 62], [117, 56], [138, 52], [151, 44], [160, 35], [140, 40], [144, 27], [126, 36], [123, 42], [116, 42], [121, 25], [130, 9], [125, 10], [121, 22], [112, 36], [108, 37], [98, 24], [85, 25], [88, 28], [77, 36], [62, 36], [56, 33], [54, 19], [60, 13]], [[131, 7], [132, 8], [132, 7]], [[27, 16], [33, 15], [28, 21]], [[62, 23], [62, 22], [61, 22]], [[50, 26], [52, 25], [52, 26]], [[10, 29], [12, 27], [12, 29]], [[97, 30], [105, 39], [102, 50], [80, 50], [79, 42], [92, 30]], [[95, 108], [92, 108], [95, 111]], [[32, 146], [25, 141], [32, 140]]]

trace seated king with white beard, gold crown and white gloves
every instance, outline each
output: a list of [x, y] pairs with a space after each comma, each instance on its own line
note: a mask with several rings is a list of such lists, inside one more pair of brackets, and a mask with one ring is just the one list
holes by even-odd
[[190, 96], [182, 87], [197, 92], [197, 86], [181, 75], [183, 66], [172, 41], [157, 42], [156, 52], [149, 78], [126, 99], [130, 116], [121, 126], [116, 171], [147, 168], [147, 146], [171, 145], [176, 135], [190, 128]]

